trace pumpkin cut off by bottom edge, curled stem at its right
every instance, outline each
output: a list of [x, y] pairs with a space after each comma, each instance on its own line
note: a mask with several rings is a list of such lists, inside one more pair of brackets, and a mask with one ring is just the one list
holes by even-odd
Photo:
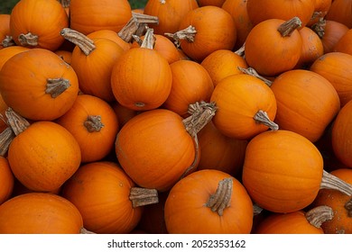
[[321, 225], [335, 216], [330, 207], [317, 206], [310, 211], [272, 213], [255, 228], [256, 234], [323, 234]]

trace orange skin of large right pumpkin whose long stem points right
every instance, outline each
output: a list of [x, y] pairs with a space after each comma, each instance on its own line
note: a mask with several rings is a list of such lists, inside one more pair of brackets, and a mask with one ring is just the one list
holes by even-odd
[[310, 140], [288, 130], [249, 141], [242, 180], [251, 198], [273, 212], [300, 211], [320, 190], [323, 159]]

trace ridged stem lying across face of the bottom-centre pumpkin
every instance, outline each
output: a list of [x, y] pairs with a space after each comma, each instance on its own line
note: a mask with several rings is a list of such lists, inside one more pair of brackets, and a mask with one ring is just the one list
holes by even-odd
[[218, 183], [217, 192], [210, 195], [206, 206], [211, 211], [217, 211], [222, 216], [224, 210], [230, 206], [232, 196], [233, 180], [231, 177], [224, 178]]

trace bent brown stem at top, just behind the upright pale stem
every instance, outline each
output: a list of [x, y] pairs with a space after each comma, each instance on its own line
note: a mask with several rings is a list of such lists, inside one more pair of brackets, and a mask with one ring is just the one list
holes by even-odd
[[147, 29], [148, 23], [159, 24], [159, 18], [157, 16], [147, 14], [137, 14], [132, 12], [132, 17], [125, 24], [124, 28], [117, 33], [117, 35], [126, 42], [130, 42], [133, 36], [141, 36], [145, 29]]

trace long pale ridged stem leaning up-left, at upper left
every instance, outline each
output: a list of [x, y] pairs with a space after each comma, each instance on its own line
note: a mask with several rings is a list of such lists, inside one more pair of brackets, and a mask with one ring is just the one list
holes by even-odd
[[85, 55], [89, 55], [94, 49], [96, 49], [96, 45], [93, 40], [90, 40], [86, 35], [79, 31], [72, 30], [70, 28], [64, 28], [60, 31], [62, 37], [65, 40], [69, 40], [74, 43], [83, 51]]

